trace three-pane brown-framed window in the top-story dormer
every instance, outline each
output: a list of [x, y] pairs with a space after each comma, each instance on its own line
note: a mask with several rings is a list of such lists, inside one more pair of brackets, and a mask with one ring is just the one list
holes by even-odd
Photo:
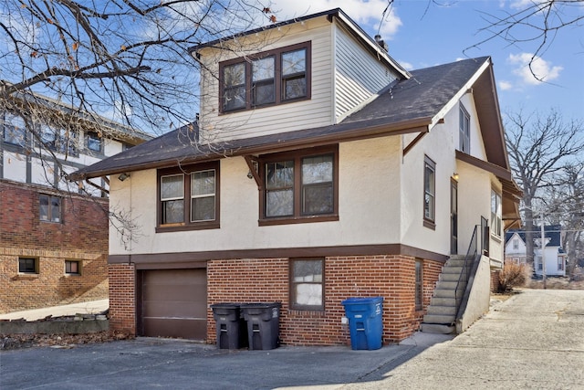
[[310, 42], [219, 64], [221, 112], [310, 99]]

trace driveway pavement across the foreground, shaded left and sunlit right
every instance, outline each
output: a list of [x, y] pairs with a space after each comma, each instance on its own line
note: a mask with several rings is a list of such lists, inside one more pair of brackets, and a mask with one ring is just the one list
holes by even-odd
[[0, 388], [584, 389], [584, 290], [525, 290], [454, 338], [378, 351], [217, 350], [139, 338], [0, 353]]

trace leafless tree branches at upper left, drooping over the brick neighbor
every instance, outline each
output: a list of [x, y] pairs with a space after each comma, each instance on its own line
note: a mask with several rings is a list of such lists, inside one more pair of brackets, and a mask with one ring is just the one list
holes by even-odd
[[[0, 137], [40, 158], [48, 184], [57, 164], [59, 187], [78, 193], [64, 162], [79, 129], [119, 139], [192, 123], [201, 64], [189, 48], [274, 22], [269, 0], [4, 0]], [[135, 230], [115, 210], [110, 221], [122, 240]]]

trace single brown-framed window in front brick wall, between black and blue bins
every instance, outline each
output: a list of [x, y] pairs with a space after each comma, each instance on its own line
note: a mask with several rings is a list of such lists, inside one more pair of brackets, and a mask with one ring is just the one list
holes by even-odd
[[324, 265], [322, 258], [290, 260], [290, 308], [324, 310]]

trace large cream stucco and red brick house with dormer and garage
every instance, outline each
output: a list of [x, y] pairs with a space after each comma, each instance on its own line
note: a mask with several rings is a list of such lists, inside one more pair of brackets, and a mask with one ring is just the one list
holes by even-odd
[[[341, 300], [381, 296], [389, 343], [452, 325], [429, 307], [463, 293], [488, 310], [520, 195], [490, 58], [408, 72], [340, 9], [192, 53], [198, 121], [73, 174], [130, 176], [110, 182], [137, 227], [110, 234], [112, 328], [213, 343], [210, 305], [280, 301], [282, 343], [339, 344]], [[465, 290], [441, 272], [467, 252]]]

